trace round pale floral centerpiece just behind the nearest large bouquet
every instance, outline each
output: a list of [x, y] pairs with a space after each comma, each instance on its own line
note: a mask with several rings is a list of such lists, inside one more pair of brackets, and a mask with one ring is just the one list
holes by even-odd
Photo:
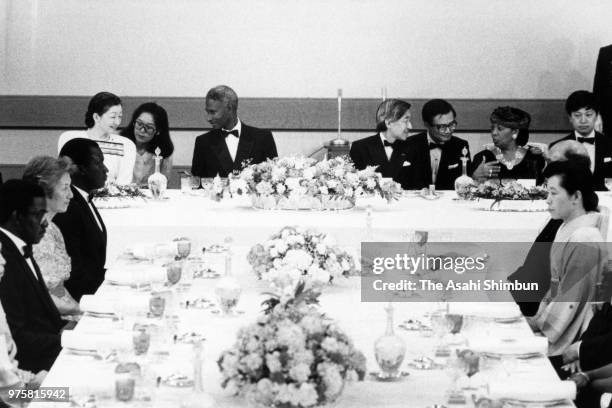
[[321, 288], [355, 273], [355, 259], [326, 234], [300, 227], [284, 227], [251, 248], [247, 259], [260, 279], [290, 296], [299, 282]]

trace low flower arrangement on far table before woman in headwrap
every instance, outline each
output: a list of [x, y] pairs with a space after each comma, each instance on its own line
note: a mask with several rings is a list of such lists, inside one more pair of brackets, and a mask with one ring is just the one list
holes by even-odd
[[526, 187], [517, 181], [485, 181], [470, 184], [457, 194], [467, 199], [484, 201], [485, 204], [491, 202], [491, 210], [541, 211], [546, 209], [544, 200], [548, 192], [542, 186]]

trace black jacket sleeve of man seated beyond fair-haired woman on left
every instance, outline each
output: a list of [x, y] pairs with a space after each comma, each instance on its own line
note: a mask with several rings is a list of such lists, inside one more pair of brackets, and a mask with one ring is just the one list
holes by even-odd
[[[69, 217], [70, 215], [70, 217]], [[66, 252], [70, 256], [71, 267], [70, 278], [65, 282], [66, 289], [76, 301], [81, 299], [85, 293], [95, 293], [104, 280], [103, 270], [92, 270], [100, 268], [99, 261], [88, 255], [89, 251], [83, 247], [88, 242], [83, 236], [85, 231], [81, 228], [82, 220], [75, 212], [57, 214], [53, 221], [59, 227], [64, 237]]]

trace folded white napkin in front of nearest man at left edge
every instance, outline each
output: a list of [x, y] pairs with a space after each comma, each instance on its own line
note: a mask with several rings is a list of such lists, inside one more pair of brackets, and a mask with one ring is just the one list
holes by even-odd
[[81, 333], [76, 330], [64, 330], [62, 347], [83, 351], [130, 350], [132, 333], [123, 330], [112, 333]]

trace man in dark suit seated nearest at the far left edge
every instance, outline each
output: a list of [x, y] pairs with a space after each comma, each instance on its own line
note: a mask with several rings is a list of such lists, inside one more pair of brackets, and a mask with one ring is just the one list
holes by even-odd
[[0, 186], [0, 244], [6, 260], [0, 300], [17, 345], [22, 370], [49, 370], [61, 350], [64, 326], [36, 260], [32, 245], [47, 228], [43, 189], [23, 180]]

